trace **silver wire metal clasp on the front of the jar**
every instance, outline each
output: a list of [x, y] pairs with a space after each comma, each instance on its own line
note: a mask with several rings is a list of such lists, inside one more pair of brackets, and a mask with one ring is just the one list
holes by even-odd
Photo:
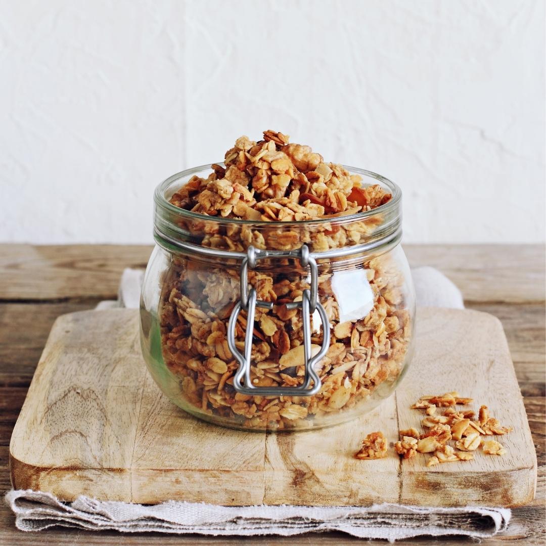
[[[304, 290], [301, 301], [293, 301], [286, 304], [289, 309], [301, 308], [303, 330], [304, 330], [304, 382], [299, 387], [255, 387], [250, 377], [251, 352], [252, 352], [252, 331], [256, 307], [272, 309], [270, 301], [257, 299], [256, 290], [248, 289], [248, 268], [254, 269], [256, 262], [263, 258], [295, 258], [299, 259], [301, 265], [308, 266], [311, 274], [310, 290]], [[245, 349], [242, 355], [235, 346], [235, 324], [241, 310], [247, 312], [247, 325], [245, 333]], [[317, 310], [321, 317], [323, 340], [321, 350], [312, 357], [311, 355], [311, 314]], [[318, 268], [317, 262], [310, 256], [307, 245], [299, 250], [291, 251], [268, 251], [257, 250], [253, 246], [248, 247], [246, 257], [241, 264], [241, 300], [235, 305], [228, 323], [228, 346], [235, 359], [239, 362], [239, 369], [233, 378], [233, 387], [238, 393], [254, 396], [312, 396], [321, 390], [322, 383], [314, 365], [318, 363], [328, 351], [330, 345], [330, 323], [328, 316], [321, 302], [318, 301]], [[241, 380], [245, 379], [243, 385]], [[311, 382], [313, 386], [310, 387]]]

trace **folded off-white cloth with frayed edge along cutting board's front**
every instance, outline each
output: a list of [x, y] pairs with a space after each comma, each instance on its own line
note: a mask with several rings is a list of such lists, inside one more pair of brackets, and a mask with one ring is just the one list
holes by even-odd
[[63, 503], [50, 493], [10, 491], [6, 500], [23, 531], [56, 525], [91, 531], [156, 531], [179, 535], [281, 535], [342, 531], [360, 538], [394, 542], [423, 535], [464, 535], [487, 538], [506, 529], [506, 508], [417, 508], [399, 505], [370, 507], [216, 506], [168, 501], [144, 506], [97, 501], [85, 496]]

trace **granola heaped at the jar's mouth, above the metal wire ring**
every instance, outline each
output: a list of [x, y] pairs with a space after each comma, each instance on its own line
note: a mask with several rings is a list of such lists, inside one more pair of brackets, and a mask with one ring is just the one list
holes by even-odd
[[[170, 203], [203, 216], [203, 222], [180, 225], [201, 238], [201, 244], [241, 251], [250, 245], [292, 250], [308, 245], [321, 251], [354, 245], [381, 224], [373, 215], [340, 224], [338, 219], [370, 211], [392, 195], [379, 184], [363, 186], [362, 177], [342, 165], [324, 162], [309, 146], [289, 143], [288, 136], [264, 131], [258, 142], [241, 136], [225, 153], [224, 165], [212, 165], [205, 179], [193, 176]], [[268, 229], [252, 225], [211, 223], [212, 218], [254, 222], [297, 222], [331, 219], [313, 228], [290, 225]]]

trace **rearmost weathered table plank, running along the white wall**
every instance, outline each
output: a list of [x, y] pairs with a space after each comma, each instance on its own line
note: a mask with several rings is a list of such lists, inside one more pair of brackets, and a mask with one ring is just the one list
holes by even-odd
[[[0, 300], [115, 298], [123, 268], [144, 268], [151, 249], [147, 245], [0, 245]], [[404, 249], [413, 267], [436, 267], [461, 289], [467, 302], [544, 302], [543, 245], [404, 245]]]

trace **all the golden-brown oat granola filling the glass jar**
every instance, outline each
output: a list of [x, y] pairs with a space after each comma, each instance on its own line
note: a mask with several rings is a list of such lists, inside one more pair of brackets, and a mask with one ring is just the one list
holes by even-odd
[[[242, 250], [252, 244], [287, 250], [305, 243], [324, 250], [352, 245], [369, 232], [371, 224], [321, 223], [306, 228], [302, 222], [286, 230], [282, 222], [335, 219], [371, 210], [391, 198], [380, 186], [361, 187], [359, 176], [325, 163], [308, 146], [290, 144], [288, 136], [272, 131], [264, 132], [258, 143], [239, 138], [226, 153], [224, 165], [212, 165], [207, 179], [193, 177], [170, 199], [178, 207], [211, 217], [206, 228], [199, 222], [186, 227], [203, 229], [201, 244], [213, 248]], [[222, 217], [265, 221], [270, 227], [211, 225], [211, 219]], [[250, 396], [233, 388], [238, 363], [227, 343], [229, 317], [240, 299], [239, 264], [174, 258], [162, 280], [159, 323], [163, 359], [179, 379], [188, 409], [193, 406], [201, 414], [249, 428], [308, 428], [311, 419], [328, 420], [334, 412], [365, 403], [379, 385], [388, 390], [400, 376], [411, 336], [405, 279], [389, 253], [361, 259], [349, 269], [361, 270], [361, 282], [368, 284], [371, 298], [369, 310], [350, 318], [342, 309], [347, 302], [340, 301], [336, 292], [334, 264], [319, 263], [318, 295], [330, 328], [330, 346], [317, 367], [322, 381], [319, 393]], [[235, 328], [240, 352], [245, 332], [252, 328], [251, 381], [257, 387], [296, 387], [304, 380], [301, 311], [286, 304], [301, 300], [309, 282], [307, 270], [294, 260], [264, 260], [248, 271], [257, 298], [274, 304], [272, 310], [258, 307], [254, 324], [247, 324], [242, 311]], [[311, 325], [313, 354], [323, 341], [317, 315]]]

